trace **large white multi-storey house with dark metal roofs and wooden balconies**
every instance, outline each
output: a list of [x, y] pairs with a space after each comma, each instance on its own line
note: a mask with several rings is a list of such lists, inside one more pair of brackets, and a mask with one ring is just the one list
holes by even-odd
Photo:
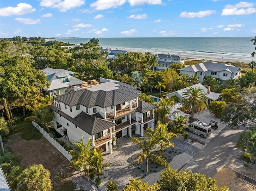
[[54, 111], [54, 128], [69, 140], [84, 142], [112, 153], [113, 138], [144, 136], [154, 128], [154, 108], [138, 100], [140, 91], [132, 85], [100, 78], [96, 85], [75, 87], [74, 92], [57, 96], [50, 108]]

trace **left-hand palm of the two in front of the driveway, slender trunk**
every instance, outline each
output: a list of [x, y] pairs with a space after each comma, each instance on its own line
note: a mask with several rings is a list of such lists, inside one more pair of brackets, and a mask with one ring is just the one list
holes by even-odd
[[[159, 156], [157, 154], [154, 154], [152, 150], [156, 148], [156, 145], [162, 141], [165, 140], [163, 137], [160, 137], [157, 135], [157, 132], [154, 131], [152, 128], [147, 128], [147, 131], [140, 140], [140, 138], [134, 138], [132, 137], [131, 140], [135, 144], [137, 144], [142, 151], [142, 154], [138, 154], [137, 163], [140, 164], [144, 159], [146, 159], [147, 163], [147, 172], [148, 172], [148, 161], [149, 159], [155, 163], [158, 163], [164, 167], [167, 166], [166, 159], [164, 159], [162, 156]], [[168, 140], [165, 140], [166, 142]]]

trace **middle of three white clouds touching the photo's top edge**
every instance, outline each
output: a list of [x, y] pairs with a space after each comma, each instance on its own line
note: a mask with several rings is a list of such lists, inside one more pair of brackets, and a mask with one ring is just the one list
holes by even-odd
[[126, 0], [97, 0], [90, 4], [90, 7], [95, 8], [96, 10], [104, 10], [109, 8], [117, 8], [125, 3]]

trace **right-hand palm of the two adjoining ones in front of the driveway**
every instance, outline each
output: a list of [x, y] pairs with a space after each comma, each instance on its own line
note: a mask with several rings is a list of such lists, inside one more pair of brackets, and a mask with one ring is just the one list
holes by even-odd
[[158, 121], [156, 124], [155, 131], [157, 132], [157, 135], [164, 138], [163, 140], [158, 142], [158, 146], [160, 147], [160, 155], [162, 155], [162, 151], [165, 148], [168, 148], [170, 146], [174, 147], [174, 143], [171, 143], [170, 140], [178, 136], [175, 133], [168, 132], [168, 124], [169, 123], [162, 124], [160, 121]]

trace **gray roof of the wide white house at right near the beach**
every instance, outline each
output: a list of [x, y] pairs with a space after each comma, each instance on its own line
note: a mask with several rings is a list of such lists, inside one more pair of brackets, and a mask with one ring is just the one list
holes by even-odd
[[180, 71], [190, 71], [190, 72], [206, 72], [206, 71], [230, 71], [231, 73], [236, 73], [240, 70], [240, 67], [224, 64], [224, 63], [216, 63], [216, 62], [204, 62], [192, 66], [188, 66], [180, 69]]

